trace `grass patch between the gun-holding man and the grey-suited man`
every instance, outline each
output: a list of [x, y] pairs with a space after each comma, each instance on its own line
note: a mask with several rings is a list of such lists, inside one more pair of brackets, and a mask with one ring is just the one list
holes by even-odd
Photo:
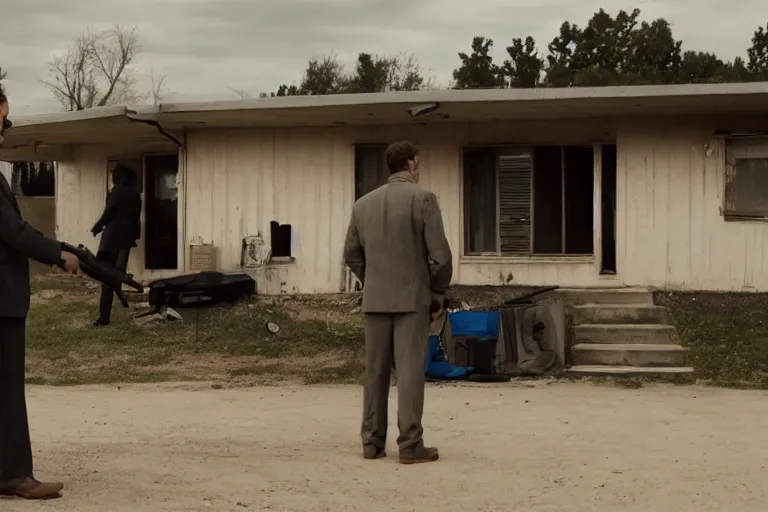
[[[347, 365], [357, 365], [363, 351], [359, 315], [343, 321], [300, 321], [281, 301], [254, 298], [202, 309], [199, 319], [187, 310], [183, 322], [142, 326], [132, 321], [131, 310], [116, 302], [113, 324], [94, 328], [96, 292], [48, 294], [32, 304], [27, 324], [28, 382], [358, 379]], [[280, 331], [271, 334], [267, 321], [277, 323]]]

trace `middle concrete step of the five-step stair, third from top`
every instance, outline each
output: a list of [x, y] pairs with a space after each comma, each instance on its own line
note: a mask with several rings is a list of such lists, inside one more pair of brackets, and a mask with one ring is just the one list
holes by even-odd
[[574, 343], [672, 345], [675, 328], [653, 324], [581, 324], [573, 326]]

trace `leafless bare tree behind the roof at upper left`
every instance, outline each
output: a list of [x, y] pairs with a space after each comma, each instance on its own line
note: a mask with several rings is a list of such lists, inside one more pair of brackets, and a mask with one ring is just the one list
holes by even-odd
[[140, 100], [130, 69], [139, 49], [135, 28], [86, 32], [64, 55], [51, 59], [51, 80], [43, 83], [66, 110]]

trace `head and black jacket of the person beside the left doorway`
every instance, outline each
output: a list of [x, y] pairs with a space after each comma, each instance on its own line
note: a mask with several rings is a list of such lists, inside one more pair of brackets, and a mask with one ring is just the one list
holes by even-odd
[[92, 230], [101, 233], [99, 251], [126, 249], [141, 238], [141, 196], [136, 191], [136, 173], [117, 166], [112, 183], [107, 206]]

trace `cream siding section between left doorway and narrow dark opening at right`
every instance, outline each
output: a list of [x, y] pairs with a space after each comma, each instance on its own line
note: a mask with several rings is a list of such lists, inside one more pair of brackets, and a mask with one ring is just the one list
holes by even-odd
[[187, 135], [186, 240], [212, 243], [223, 271], [239, 269], [242, 240], [269, 223], [291, 224], [294, 264], [269, 265], [265, 293], [330, 293], [343, 287], [342, 250], [354, 203], [354, 144], [413, 140], [421, 184], [440, 201], [453, 249], [454, 282], [468, 285], [598, 286], [595, 258], [462, 257], [461, 150], [470, 144], [613, 141], [612, 127], [579, 123], [485, 123], [373, 128], [199, 130]]

